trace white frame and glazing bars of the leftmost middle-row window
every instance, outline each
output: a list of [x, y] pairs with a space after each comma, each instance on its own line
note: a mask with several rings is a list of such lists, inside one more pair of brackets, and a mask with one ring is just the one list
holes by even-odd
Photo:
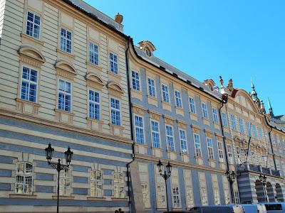
[[[24, 78], [24, 69], [28, 70], [28, 79]], [[36, 72], [36, 82], [31, 80], [31, 71]], [[23, 82], [25, 82], [27, 84], [26, 89], [28, 89], [28, 91], [25, 94], [25, 97], [22, 97], [22, 89], [23, 89]], [[31, 95], [31, 84], [33, 84], [36, 87], [36, 91], [35, 93], [35, 101], [30, 100], [30, 95]], [[28, 66], [22, 66], [21, 69], [21, 91], [20, 91], [20, 98], [23, 100], [26, 100], [28, 102], [33, 102], [36, 103], [38, 101], [38, 70], [34, 70], [31, 67]]]

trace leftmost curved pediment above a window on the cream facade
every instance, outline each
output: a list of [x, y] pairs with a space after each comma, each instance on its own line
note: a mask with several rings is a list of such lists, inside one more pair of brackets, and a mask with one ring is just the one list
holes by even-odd
[[41, 54], [41, 51], [31, 45], [22, 45], [18, 53], [21, 61], [35, 67], [41, 67], [41, 65], [46, 62], [46, 59], [44, 58], [43, 54]]

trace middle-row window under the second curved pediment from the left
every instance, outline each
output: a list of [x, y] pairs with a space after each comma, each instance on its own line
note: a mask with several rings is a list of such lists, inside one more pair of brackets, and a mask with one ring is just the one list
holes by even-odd
[[58, 109], [71, 111], [71, 82], [59, 80]]

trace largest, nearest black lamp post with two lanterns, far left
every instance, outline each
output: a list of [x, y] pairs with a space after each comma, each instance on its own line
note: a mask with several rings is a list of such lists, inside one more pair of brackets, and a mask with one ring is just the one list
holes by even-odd
[[[58, 163], [51, 163], [51, 159], [53, 158], [53, 151], [54, 151], [54, 148], [51, 147], [51, 143], [48, 144], [48, 147], [45, 149], [45, 151], [46, 151], [46, 160], [48, 160], [48, 165], [51, 165], [52, 168], [58, 171], [58, 203], [59, 203], [59, 173], [61, 172], [61, 170], [65, 170], [66, 168], [69, 168], [69, 165], [71, 164], [71, 158], [73, 156], [73, 152], [71, 151], [71, 148], [68, 146], [67, 151], [64, 152], [64, 155], [66, 155], [66, 165], [64, 165], [64, 164], [61, 164], [61, 159], [58, 159]], [[56, 212], [58, 213], [58, 204], [57, 204]]]

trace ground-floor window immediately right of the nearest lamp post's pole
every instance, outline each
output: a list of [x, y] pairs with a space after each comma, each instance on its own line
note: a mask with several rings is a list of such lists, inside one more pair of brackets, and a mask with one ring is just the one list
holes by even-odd
[[59, 195], [71, 195], [71, 169], [66, 168], [59, 173]]

